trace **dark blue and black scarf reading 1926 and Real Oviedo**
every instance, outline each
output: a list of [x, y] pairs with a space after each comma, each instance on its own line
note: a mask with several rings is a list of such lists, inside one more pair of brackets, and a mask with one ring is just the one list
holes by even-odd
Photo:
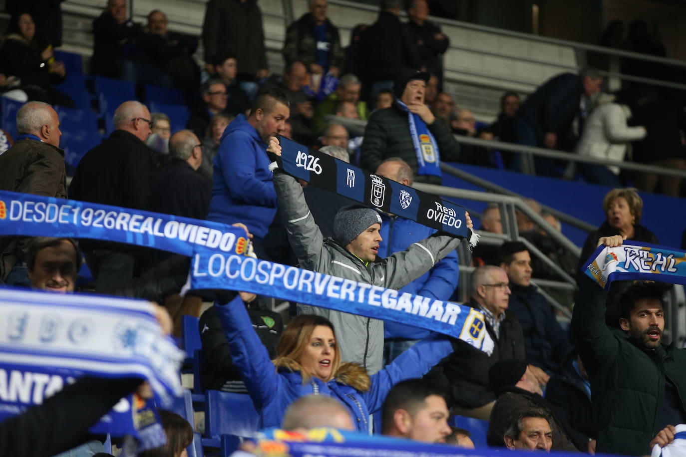
[[464, 208], [434, 195], [403, 186], [279, 135], [277, 163], [289, 175], [366, 206], [412, 219], [460, 238], [471, 238]]

